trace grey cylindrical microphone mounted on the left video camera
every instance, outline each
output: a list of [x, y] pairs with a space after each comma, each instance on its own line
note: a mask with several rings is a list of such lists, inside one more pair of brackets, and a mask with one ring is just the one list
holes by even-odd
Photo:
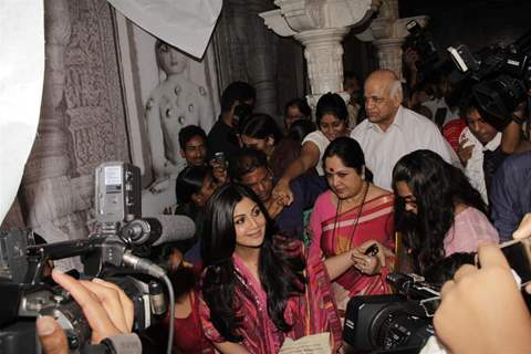
[[127, 242], [159, 246], [167, 242], [188, 240], [196, 233], [194, 220], [181, 215], [159, 215], [127, 222], [121, 237]]

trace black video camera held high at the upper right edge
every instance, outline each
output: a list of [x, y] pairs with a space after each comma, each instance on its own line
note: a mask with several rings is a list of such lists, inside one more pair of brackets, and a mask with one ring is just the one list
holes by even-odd
[[457, 69], [475, 82], [472, 95], [483, 118], [502, 131], [531, 88], [531, 31], [507, 46], [490, 45], [472, 54], [461, 44], [448, 52]]

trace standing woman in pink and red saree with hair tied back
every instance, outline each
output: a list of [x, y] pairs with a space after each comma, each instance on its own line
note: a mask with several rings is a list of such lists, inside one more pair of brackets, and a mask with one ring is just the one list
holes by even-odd
[[330, 189], [310, 219], [310, 254], [324, 259], [337, 309], [344, 315], [355, 295], [389, 292], [393, 267], [393, 194], [373, 185], [356, 140], [340, 137], [323, 156]]

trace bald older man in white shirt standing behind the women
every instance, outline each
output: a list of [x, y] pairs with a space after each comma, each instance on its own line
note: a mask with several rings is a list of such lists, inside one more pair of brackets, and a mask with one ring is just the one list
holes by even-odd
[[460, 166], [457, 155], [437, 126], [428, 118], [402, 106], [402, 84], [389, 70], [373, 72], [365, 81], [367, 119], [351, 133], [365, 154], [375, 185], [392, 189], [393, 167], [400, 157], [429, 149], [446, 162]]

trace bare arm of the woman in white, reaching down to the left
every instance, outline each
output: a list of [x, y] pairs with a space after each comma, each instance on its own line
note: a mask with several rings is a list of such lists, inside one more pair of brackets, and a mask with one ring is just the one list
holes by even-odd
[[284, 175], [277, 183], [273, 189], [273, 195], [278, 198], [287, 200], [287, 205], [293, 202], [293, 192], [290, 188], [290, 181], [296, 177], [303, 175], [310, 168], [317, 166], [319, 164], [319, 147], [313, 142], [305, 142], [302, 145], [301, 156], [292, 162], [284, 171]]

